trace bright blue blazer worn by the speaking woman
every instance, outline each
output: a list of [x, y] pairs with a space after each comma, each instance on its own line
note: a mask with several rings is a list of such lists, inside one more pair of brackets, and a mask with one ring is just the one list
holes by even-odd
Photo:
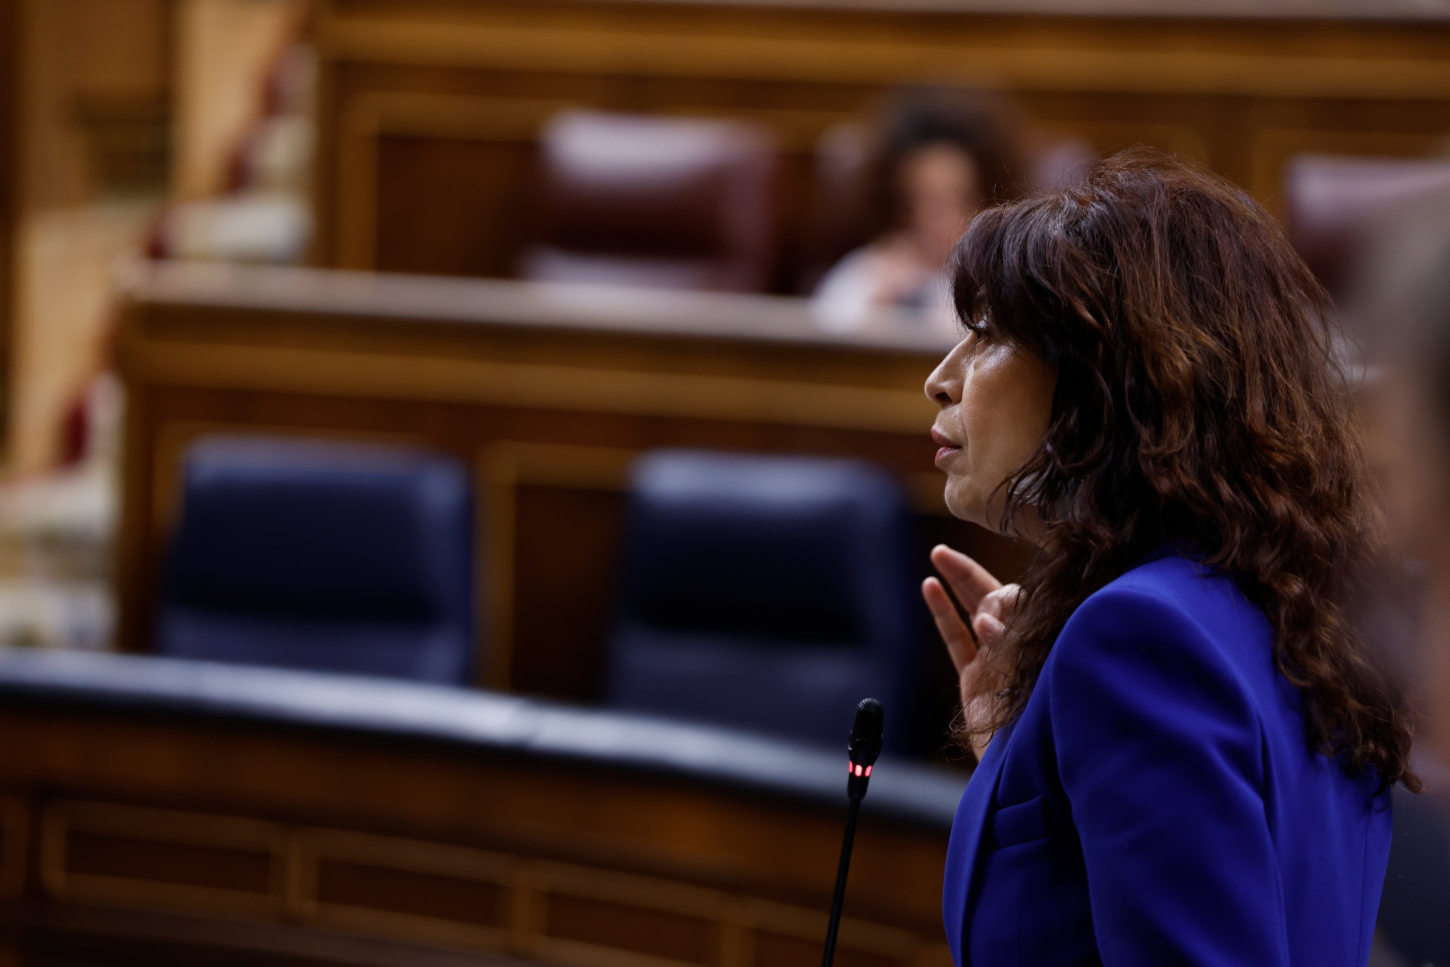
[[1272, 641], [1172, 551], [1083, 602], [957, 809], [958, 967], [1363, 967], [1389, 796], [1308, 750]]

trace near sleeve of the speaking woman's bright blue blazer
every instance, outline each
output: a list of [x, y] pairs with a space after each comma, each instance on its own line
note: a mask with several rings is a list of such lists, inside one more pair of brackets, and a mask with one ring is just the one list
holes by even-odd
[[1105, 967], [1288, 966], [1262, 722], [1227, 657], [1172, 602], [1105, 589], [1048, 664]]

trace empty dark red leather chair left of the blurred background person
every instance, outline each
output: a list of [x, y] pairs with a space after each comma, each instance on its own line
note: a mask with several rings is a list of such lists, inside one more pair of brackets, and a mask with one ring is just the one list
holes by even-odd
[[566, 112], [544, 130], [541, 242], [519, 275], [764, 291], [776, 248], [768, 129]]

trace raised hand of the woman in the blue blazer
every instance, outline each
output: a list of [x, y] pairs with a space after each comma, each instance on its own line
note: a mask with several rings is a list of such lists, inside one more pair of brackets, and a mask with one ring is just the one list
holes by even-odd
[[[1021, 590], [1016, 584], [1003, 584], [992, 574], [960, 551], [953, 551], [945, 544], [938, 544], [931, 549], [931, 563], [947, 581], [951, 593], [967, 610], [967, 621], [947, 596], [947, 589], [941, 580], [928, 577], [922, 581], [921, 596], [927, 599], [927, 607], [937, 622], [941, 639], [947, 642], [947, 652], [957, 667], [957, 680], [961, 687], [961, 700], [966, 703], [972, 693], [972, 684], [982, 667], [977, 663], [983, 648], [990, 648], [1006, 631], [1006, 621], [1016, 605], [1016, 594]], [[969, 623], [970, 622], [970, 623]], [[977, 750], [980, 755], [986, 748]]]

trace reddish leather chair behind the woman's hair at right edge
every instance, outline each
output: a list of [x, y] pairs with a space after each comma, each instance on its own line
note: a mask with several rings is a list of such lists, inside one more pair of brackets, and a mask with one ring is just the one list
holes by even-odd
[[1379, 223], [1450, 190], [1450, 159], [1299, 155], [1285, 170], [1289, 241], [1335, 299], [1356, 284]]

